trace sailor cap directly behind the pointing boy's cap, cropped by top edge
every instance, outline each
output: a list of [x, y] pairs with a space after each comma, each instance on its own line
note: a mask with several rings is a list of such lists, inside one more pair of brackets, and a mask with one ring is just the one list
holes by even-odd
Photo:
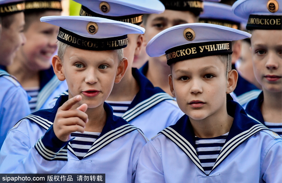
[[101, 17], [140, 25], [143, 14], [162, 13], [164, 5], [159, 0], [75, 0], [82, 4], [80, 15]]

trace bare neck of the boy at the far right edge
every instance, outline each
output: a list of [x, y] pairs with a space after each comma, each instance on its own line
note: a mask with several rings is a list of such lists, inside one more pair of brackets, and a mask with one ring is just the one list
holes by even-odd
[[264, 101], [261, 105], [261, 113], [264, 121], [271, 123], [282, 122], [282, 92], [269, 92], [263, 88]]

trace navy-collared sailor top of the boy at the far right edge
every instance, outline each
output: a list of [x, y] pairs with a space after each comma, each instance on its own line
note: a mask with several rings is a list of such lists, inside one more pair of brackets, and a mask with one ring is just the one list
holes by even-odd
[[264, 117], [261, 113], [260, 106], [264, 100], [264, 93], [263, 91], [259, 94], [256, 99], [251, 100], [248, 102], [246, 106], [246, 112], [250, 118], [258, 121], [259, 123], [265, 125], [267, 128], [271, 128], [274, 132], [278, 133], [280, 136], [282, 135], [282, 122], [277, 123], [277, 126], [268, 126], [264, 121]]

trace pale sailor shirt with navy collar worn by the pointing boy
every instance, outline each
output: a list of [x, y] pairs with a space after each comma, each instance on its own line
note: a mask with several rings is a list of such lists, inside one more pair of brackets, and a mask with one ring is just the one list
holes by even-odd
[[133, 182], [138, 155], [147, 141], [144, 134], [113, 116], [112, 108], [104, 102], [106, 124], [79, 160], [70, 142], [55, 136], [52, 125], [67, 99], [68, 95], [61, 96], [53, 109], [32, 113], [9, 131], [0, 151], [0, 173], [105, 173], [109, 183]]

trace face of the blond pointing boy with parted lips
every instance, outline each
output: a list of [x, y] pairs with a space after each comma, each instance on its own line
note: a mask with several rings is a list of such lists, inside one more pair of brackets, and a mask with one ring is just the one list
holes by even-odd
[[[53, 58], [54, 62], [54, 58]], [[62, 76], [69, 88], [69, 98], [81, 95], [88, 108], [98, 107], [108, 98], [113, 84], [118, 83], [125, 70], [118, 65], [116, 51], [92, 51], [74, 47], [66, 49], [62, 63]], [[53, 64], [54, 67], [54, 64]], [[125, 67], [126, 69], [126, 67]], [[76, 107], [78, 107], [76, 106]]]

